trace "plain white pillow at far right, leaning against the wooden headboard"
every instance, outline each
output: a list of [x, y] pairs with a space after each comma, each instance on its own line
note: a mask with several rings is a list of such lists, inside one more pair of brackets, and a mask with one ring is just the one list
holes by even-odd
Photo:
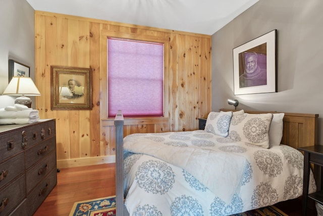
[[269, 129], [269, 143], [271, 146], [281, 144], [283, 137], [283, 119], [284, 113], [274, 113], [271, 127]]

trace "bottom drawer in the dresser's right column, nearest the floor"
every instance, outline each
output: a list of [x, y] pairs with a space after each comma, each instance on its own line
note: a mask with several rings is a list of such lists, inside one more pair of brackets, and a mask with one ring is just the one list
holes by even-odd
[[32, 215], [57, 184], [57, 171], [52, 170], [29, 194], [27, 199], [28, 215]]

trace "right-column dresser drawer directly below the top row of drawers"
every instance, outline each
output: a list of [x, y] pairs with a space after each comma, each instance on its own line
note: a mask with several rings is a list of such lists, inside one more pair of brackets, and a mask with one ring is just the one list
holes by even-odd
[[26, 167], [29, 169], [32, 165], [44, 158], [51, 151], [56, 149], [56, 137], [51, 137], [48, 140], [38, 143], [26, 151]]

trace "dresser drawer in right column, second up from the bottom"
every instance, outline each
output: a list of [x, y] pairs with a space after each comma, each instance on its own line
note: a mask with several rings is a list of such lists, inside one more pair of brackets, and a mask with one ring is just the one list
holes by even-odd
[[33, 189], [46, 175], [56, 168], [56, 151], [52, 151], [39, 163], [27, 170], [27, 193]]

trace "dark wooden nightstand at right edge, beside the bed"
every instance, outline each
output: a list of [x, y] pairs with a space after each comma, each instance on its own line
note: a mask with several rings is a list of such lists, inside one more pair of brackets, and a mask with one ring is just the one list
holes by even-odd
[[[323, 204], [323, 191], [308, 194], [310, 164], [313, 163], [320, 168], [323, 166], [323, 145], [300, 147], [298, 150], [304, 152], [302, 215], [306, 215], [307, 198], [311, 198], [319, 204]], [[316, 185], [318, 186], [318, 189], [321, 189], [321, 182], [316, 182]]]

